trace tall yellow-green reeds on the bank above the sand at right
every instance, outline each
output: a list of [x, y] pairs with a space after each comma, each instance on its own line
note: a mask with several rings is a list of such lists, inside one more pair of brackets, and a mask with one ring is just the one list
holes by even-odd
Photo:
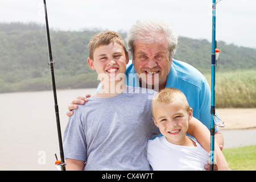
[[[210, 73], [204, 74], [211, 85]], [[216, 107], [256, 107], [256, 70], [221, 71], [216, 73]]]

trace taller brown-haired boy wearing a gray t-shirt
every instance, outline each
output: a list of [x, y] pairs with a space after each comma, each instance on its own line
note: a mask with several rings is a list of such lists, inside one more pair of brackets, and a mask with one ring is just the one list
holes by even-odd
[[125, 85], [129, 61], [123, 39], [115, 32], [95, 35], [88, 64], [102, 89], [79, 106], [64, 132], [67, 170], [150, 170], [147, 141], [154, 133], [153, 90]]

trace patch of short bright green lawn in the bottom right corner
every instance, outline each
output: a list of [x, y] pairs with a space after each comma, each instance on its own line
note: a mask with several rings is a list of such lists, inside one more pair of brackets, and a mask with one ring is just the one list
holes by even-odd
[[232, 171], [256, 171], [256, 145], [222, 150]]

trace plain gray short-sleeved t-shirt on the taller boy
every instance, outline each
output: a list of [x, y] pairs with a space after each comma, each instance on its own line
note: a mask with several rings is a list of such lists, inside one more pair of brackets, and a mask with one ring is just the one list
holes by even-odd
[[160, 134], [151, 113], [153, 90], [127, 89], [115, 97], [90, 97], [69, 118], [65, 158], [84, 160], [84, 170], [151, 170], [148, 139]]

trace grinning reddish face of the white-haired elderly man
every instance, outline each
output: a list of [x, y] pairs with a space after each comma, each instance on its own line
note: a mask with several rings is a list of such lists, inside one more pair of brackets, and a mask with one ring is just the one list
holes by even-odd
[[141, 85], [158, 85], [159, 90], [165, 88], [171, 64], [167, 40], [147, 44], [140, 40], [135, 41], [133, 65], [141, 78]]

